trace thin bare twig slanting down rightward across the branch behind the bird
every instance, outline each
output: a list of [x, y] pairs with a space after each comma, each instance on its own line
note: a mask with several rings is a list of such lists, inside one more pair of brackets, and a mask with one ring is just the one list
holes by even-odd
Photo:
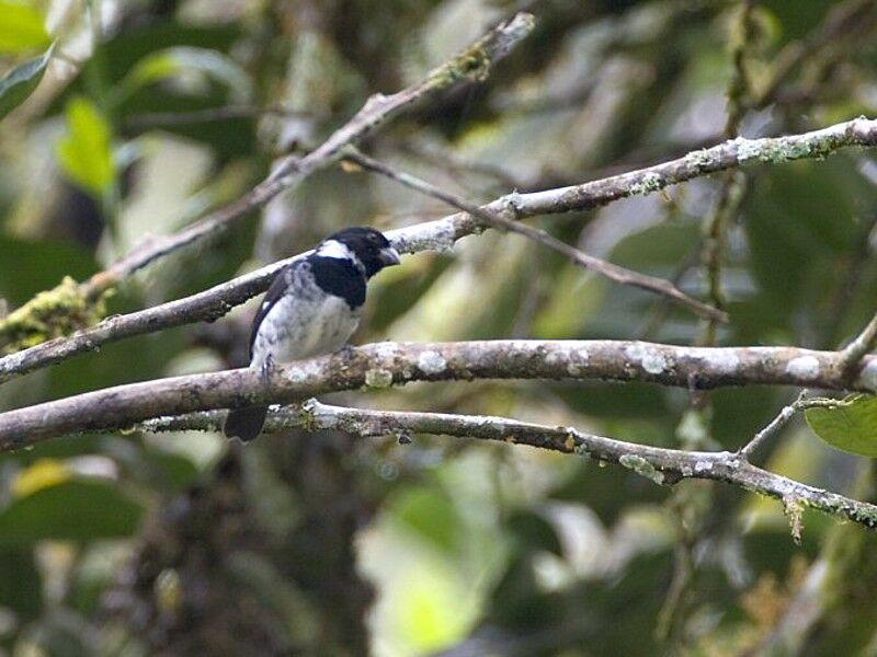
[[[547, 246], [553, 251], [557, 251], [577, 265], [596, 272], [597, 274], [601, 274], [611, 280], [622, 285], [638, 287], [640, 289], [673, 299], [677, 303], [681, 303], [688, 310], [694, 311], [703, 318], [726, 322], [728, 321], [727, 314], [713, 308], [711, 306], [704, 303], [703, 301], [698, 301], [697, 299], [690, 297], [669, 280], [640, 274], [639, 272], [634, 272], [619, 265], [608, 263], [599, 257], [594, 257], [593, 255], [589, 255], [576, 249], [574, 246], [570, 246], [566, 242], [558, 240], [544, 230], [533, 228], [526, 223], [521, 223], [514, 219], [505, 218], [501, 214], [502, 210], [498, 211], [493, 209], [481, 208], [480, 206], [469, 203], [456, 194], [436, 187], [435, 185], [403, 171], [398, 171], [388, 164], [385, 164], [384, 162], [375, 160], [374, 158], [369, 158], [368, 155], [361, 153], [358, 150], [349, 150], [345, 158], [356, 162], [356, 164], [364, 169], [385, 175], [398, 183], [401, 183], [402, 185], [406, 185], [407, 187], [417, 189], [418, 192], [426, 194], [428, 196], [438, 198], [440, 200], [443, 200], [446, 204], [463, 210], [464, 212], [468, 212], [469, 215], [479, 219], [486, 226], [524, 235], [534, 242], [542, 244], [543, 246]], [[505, 212], [516, 217], [513, 201], [510, 200], [505, 208]]]

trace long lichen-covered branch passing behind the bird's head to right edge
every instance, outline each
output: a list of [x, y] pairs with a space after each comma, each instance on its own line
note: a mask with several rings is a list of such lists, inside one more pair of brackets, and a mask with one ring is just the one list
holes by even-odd
[[[856, 118], [829, 128], [788, 137], [737, 138], [713, 148], [693, 151], [671, 160], [581, 185], [546, 189], [531, 194], [512, 193], [481, 206], [497, 212], [513, 207], [519, 219], [573, 210], [585, 210], [637, 194], [650, 194], [717, 171], [753, 162], [785, 162], [821, 159], [853, 146], [877, 146], [877, 120]], [[460, 212], [389, 231], [388, 237], [402, 253], [446, 251], [463, 237], [479, 232], [482, 224]], [[297, 256], [301, 257], [301, 256]], [[232, 307], [267, 289], [274, 275], [292, 258], [281, 261], [203, 292], [162, 303], [147, 310], [111, 318], [87, 328], [0, 358], [0, 382], [70, 356], [100, 348], [101, 345], [163, 328], [201, 321], [214, 321]]]

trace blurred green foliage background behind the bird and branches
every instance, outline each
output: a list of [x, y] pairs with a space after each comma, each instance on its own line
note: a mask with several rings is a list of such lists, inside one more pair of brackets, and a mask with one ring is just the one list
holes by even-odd
[[[417, 81], [513, 4], [0, 0], [8, 310], [240, 196], [278, 154], [318, 143], [369, 93]], [[747, 26], [730, 0], [536, 3], [536, 31], [487, 81], [430, 99], [363, 147], [481, 201], [719, 142], [741, 74], [748, 137], [877, 114], [875, 2], [751, 4]], [[775, 91], [760, 97], [777, 71]], [[745, 170], [725, 224], [731, 321], [719, 344], [834, 348], [861, 330], [877, 299], [876, 171], [866, 150]], [[711, 176], [538, 223], [706, 298], [704, 218], [725, 184]], [[138, 273], [107, 312], [202, 290], [343, 226], [449, 211], [365, 172], [321, 172], [261, 217]], [[240, 365], [251, 311], [13, 380], [0, 406]], [[695, 344], [704, 335], [675, 306], [520, 235], [487, 232], [378, 277], [355, 339]], [[693, 395], [485, 381], [342, 395], [728, 450], [791, 399], [763, 387]], [[830, 445], [873, 454], [869, 404], [812, 410], [808, 420]], [[808, 512], [799, 548], [781, 505], [734, 488], [671, 489], [579, 457], [413, 438], [291, 433], [240, 449], [209, 434], [87, 435], [0, 456], [0, 646], [13, 655], [873, 653], [877, 568], [874, 538], [859, 527]], [[799, 419], [756, 458], [874, 496], [869, 462], [825, 447]]]

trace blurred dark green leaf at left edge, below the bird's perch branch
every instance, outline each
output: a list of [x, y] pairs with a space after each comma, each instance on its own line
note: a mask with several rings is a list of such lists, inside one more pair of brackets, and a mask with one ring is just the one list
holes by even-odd
[[128, 537], [141, 516], [140, 505], [113, 484], [67, 480], [19, 497], [0, 511], [0, 543]]

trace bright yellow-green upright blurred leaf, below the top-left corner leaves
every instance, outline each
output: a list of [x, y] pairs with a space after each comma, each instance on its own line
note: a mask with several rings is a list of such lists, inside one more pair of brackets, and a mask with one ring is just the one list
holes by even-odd
[[68, 134], [58, 142], [58, 160], [65, 173], [96, 197], [104, 196], [115, 180], [111, 129], [106, 118], [88, 99], [67, 103]]

